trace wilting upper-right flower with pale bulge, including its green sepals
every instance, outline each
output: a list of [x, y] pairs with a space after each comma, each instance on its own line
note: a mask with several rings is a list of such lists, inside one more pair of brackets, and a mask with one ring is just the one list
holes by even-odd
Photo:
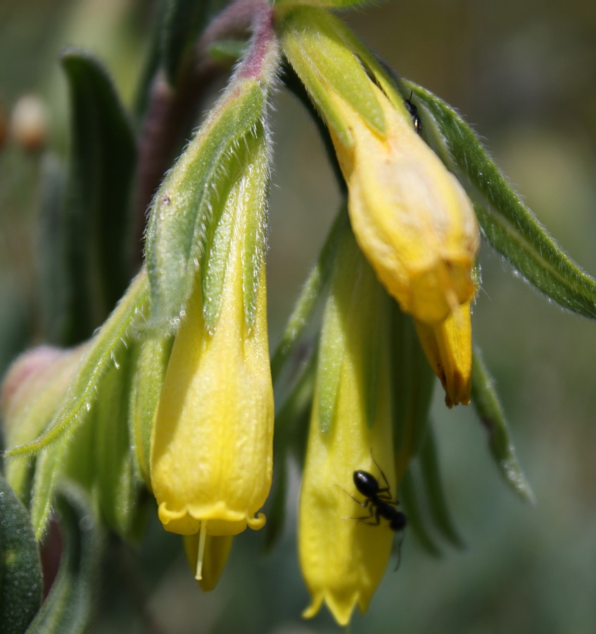
[[371, 79], [378, 69], [367, 73], [339, 20], [293, 8], [281, 32], [331, 133], [360, 249], [402, 311], [424, 323], [443, 321], [476, 290], [471, 270], [480, 236], [467, 194], [414, 129], [403, 101]]

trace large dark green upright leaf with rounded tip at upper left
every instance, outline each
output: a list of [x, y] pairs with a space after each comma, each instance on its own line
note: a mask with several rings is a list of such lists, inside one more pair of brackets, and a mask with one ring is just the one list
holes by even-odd
[[58, 342], [70, 345], [103, 322], [129, 280], [129, 197], [137, 149], [101, 63], [70, 49], [62, 65], [70, 87], [72, 156], [59, 241], [70, 293]]

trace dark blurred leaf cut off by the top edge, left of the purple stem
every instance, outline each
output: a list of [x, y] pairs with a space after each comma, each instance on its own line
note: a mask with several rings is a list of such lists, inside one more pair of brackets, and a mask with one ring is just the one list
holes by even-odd
[[211, 4], [208, 0], [167, 0], [161, 56], [167, 80], [172, 86], [177, 84], [189, 61], [189, 52], [207, 23]]

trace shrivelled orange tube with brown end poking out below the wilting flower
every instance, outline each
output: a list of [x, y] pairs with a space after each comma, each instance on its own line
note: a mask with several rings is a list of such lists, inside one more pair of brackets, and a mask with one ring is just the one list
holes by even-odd
[[470, 402], [472, 343], [470, 302], [445, 321], [428, 325], [414, 320], [418, 338], [433, 372], [445, 390], [445, 404], [452, 407]]

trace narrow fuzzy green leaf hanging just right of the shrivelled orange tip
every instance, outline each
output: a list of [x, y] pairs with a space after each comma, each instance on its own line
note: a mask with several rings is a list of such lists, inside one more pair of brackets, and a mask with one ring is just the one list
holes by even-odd
[[480, 349], [472, 356], [471, 402], [488, 433], [488, 447], [505, 482], [526, 502], [535, 502], [534, 494], [517, 459], [509, 426]]

